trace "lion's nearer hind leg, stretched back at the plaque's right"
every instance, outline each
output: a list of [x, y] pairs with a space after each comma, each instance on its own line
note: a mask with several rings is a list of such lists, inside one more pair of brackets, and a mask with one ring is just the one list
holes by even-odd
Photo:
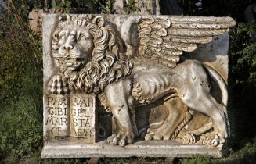
[[[182, 68], [178, 68], [182, 69]], [[225, 100], [217, 102], [217, 99], [211, 95], [211, 85], [209, 80], [216, 80], [220, 89], [220, 94], [225, 93], [225, 87], [220, 85], [218, 73], [214, 71], [206, 71], [207, 68], [202, 66], [200, 62], [188, 61], [186, 73], [182, 76], [184, 81], [178, 84], [178, 96], [182, 99], [190, 109], [201, 112], [209, 116], [213, 124], [213, 138], [219, 138], [219, 144], [225, 141], [228, 137], [227, 133], [227, 120], [225, 116]], [[211, 73], [212, 72], [212, 73]], [[211, 76], [215, 74], [215, 76]]]

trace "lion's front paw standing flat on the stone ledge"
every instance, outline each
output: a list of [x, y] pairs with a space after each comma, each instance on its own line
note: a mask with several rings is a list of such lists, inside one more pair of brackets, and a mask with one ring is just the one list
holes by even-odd
[[109, 144], [125, 146], [126, 144], [132, 144], [133, 138], [128, 135], [112, 134], [112, 136], [108, 137], [106, 141]]

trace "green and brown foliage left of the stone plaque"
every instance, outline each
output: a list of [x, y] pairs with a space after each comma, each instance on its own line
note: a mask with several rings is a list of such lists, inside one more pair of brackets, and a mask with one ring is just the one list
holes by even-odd
[[20, 4], [9, 4], [0, 20], [0, 158], [41, 145], [41, 39], [29, 30], [27, 5]]

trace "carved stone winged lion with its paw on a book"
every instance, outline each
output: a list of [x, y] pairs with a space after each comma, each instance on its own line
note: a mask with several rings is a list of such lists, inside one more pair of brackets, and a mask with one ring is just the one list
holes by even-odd
[[[203, 62], [182, 59], [197, 44], [224, 34], [235, 21], [229, 17], [127, 16], [116, 25], [104, 16], [65, 15], [52, 34], [56, 71], [49, 79], [50, 94], [95, 94], [117, 121], [118, 132], [110, 144], [132, 144], [137, 134], [136, 106], [172, 95], [211, 118], [210, 136], [223, 144], [229, 134], [225, 80]], [[217, 81], [222, 101], [211, 95], [209, 79]], [[146, 139], [169, 140], [176, 125], [164, 123], [160, 133]], [[171, 130], [170, 130], [171, 129]]]

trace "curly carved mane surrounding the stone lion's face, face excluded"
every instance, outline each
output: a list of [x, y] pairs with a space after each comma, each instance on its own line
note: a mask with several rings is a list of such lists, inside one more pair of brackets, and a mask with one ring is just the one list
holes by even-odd
[[[67, 27], [87, 27], [93, 36], [94, 49], [92, 59], [79, 71], [67, 71], [65, 59], [55, 59], [59, 73], [67, 80], [74, 91], [98, 94], [104, 87], [132, 71], [132, 62], [124, 55], [121, 37], [114, 27], [106, 23], [101, 16], [68, 16], [59, 23], [52, 38], [52, 53], [58, 53], [59, 32]], [[74, 28], [75, 29], [75, 28]]]

